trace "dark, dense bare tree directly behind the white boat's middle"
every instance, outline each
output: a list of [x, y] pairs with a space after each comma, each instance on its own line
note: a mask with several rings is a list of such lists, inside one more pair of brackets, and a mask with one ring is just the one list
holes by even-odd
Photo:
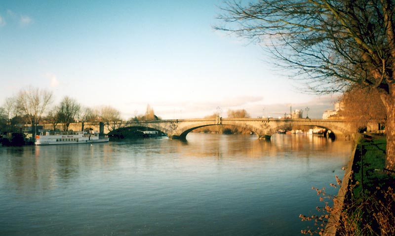
[[80, 105], [77, 100], [68, 96], [64, 97], [59, 106], [59, 120], [63, 125], [63, 130], [68, 131], [71, 122], [79, 113]]

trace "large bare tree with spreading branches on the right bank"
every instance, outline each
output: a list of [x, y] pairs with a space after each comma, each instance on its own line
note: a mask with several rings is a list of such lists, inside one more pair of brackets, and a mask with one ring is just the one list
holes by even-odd
[[[350, 84], [380, 94], [387, 114], [385, 168], [395, 171], [393, 0], [227, 0], [215, 27], [260, 43], [318, 93]], [[372, 98], [373, 99], [373, 98]]]

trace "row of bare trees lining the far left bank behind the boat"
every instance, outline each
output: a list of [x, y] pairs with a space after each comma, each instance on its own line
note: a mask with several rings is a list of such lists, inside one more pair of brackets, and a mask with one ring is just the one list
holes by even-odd
[[[89, 108], [82, 106], [76, 99], [63, 97], [59, 104], [53, 104], [53, 93], [46, 89], [29, 86], [21, 89], [15, 96], [8, 97], [0, 107], [0, 138], [12, 133], [22, 133], [25, 124], [32, 126], [33, 138], [36, 137], [37, 125], [50, 124], [52, 130], [62, 125], [64, 131], [69, 130], [73, 122], [81, 124], [81, 131], [87, 123], [103, 122], [112, 131], [123, 127], [127, 121], [122, 120], [120, 112], [112, 106]], [[147, 106], [144, 116], [136, 116], [131, 121], [160, 119], [154, 109]]]

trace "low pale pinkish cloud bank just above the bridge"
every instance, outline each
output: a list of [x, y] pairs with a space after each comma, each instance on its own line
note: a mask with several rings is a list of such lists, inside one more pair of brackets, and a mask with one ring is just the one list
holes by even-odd
[[[221, 100], [213, 101], [188, 101], [188, 100], [168, 100], [151, 101], [150, 105], [154, 108], [155, 114], [164, 119], [172, 118], [203, 118], [218, 112], [221, 108], [222, 116], [227, 117], [228, 110], [245, 109], [251, 118], [261, 116], [278, 118], [289, 114], [290, 106], [292, 110], [302, 110], [303, 116], [306, 116], [306, 107], [309, 108], [308, 115], [310, 118], [322, 118], [325, 110], [333, 109], [337, 96], [320, 96], [303, 103], [276, 103], [266, 104], [262, 96], [235, 96]], [[137, 114], [144, 114], [147, 102], [144, 100], [134, 100], [125, 102], [124, 110], [133, 107]], [[130, 110], [130, 109], [129, 109]], [[133, 110], [133, 111], [134, 111]], [[124, 114], [125, 118], [134, 116], [133, 111], [130, 114]]]

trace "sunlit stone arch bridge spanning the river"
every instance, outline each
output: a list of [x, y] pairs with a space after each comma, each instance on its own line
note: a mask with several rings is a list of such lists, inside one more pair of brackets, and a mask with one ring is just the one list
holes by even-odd
[[328, 119], [274, 119], [274, 118], [203, 118], [203, 119], [164, 119], [147, 121], [127, 121], [120, 123], [119, 128], [109, 132], [112, 134], [129, 127], [148, 127], [166, 133], [170, 139], [186, 139], [194, 129], [210, 125], [235, 125], [254, 132], [259, 139], [270, 139], [279, 129], [290, 129], [297, 126], [317, 126], [330, 130], [336, 138], [350, 139], [356, 133], [343, 120]]

